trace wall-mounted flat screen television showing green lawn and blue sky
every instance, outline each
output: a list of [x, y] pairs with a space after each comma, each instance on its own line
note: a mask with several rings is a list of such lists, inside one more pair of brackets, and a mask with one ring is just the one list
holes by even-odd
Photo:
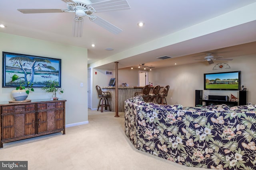
[[204, 74], [204, 90], [240, 90], [241, 71]]

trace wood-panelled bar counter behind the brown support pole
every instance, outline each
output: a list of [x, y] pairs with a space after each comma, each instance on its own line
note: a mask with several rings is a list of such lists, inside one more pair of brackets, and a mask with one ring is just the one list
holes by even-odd
[[[118, 86], [118, 112], [124, 112], [124, 101], [126, 99], [132, 98], [134, 97], [135, 92], [141, 92], [142, 88], [144, 86], [128, 86], [128, 87], [124, 87], [124, 86]], [[151, 86], [152, 90], [154, 88], [154, 86]], [[160, 91], [161, 88], [163, 88], [162, 86], [160, 86]], [[106, 86], [106, 87], [102, 87], [102, 91], [103, 92], [110, 92], [111, 94], [111, 98], [109, 100], [109, 104], [111, 107], [111, 111], [116, 111], [116, 96], [115, 96], [115, 90], [116, 87], [110, 87], [110, 86]]]

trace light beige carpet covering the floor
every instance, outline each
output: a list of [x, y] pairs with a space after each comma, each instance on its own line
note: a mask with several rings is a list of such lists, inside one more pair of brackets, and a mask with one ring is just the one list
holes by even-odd
[[27, 160], [29, 170], [205, 170], [135, 149], [124, 133], [124, 113], [88, 112], [89, 123], [66, 128], [66, 135], [4, 143], [0, 160]]

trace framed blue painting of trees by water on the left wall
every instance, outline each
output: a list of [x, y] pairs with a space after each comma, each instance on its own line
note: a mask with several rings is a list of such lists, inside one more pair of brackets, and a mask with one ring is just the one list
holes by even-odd
[[[19, 81], [12, 81], [12, 76]], [[13, 88], [20, 83], [33, 83], [33, 88], [45, 87], [49, 81], [61, 88], [61, 59], [2, 51], [2, 88]]]

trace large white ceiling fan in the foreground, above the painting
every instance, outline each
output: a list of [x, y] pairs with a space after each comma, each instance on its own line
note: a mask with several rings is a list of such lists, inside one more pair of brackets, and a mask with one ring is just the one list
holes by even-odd
[[94, 23], [114, 34], [118, 34], [122, 32], [122, 29], [98, 16], [95, 16], [94, 13], [130, 9], [130, 5], [126, 0], [106, 0], [96, 3], [92, 3], [90, 0], [62, 1], [67, 4], [67, 9], [18, 9], [18, 11], [24, 14], [73, 12], [76, 16], [74, 18], [72, 35], [73, 37], [82, 37], [83, 17], [87, 16]]

